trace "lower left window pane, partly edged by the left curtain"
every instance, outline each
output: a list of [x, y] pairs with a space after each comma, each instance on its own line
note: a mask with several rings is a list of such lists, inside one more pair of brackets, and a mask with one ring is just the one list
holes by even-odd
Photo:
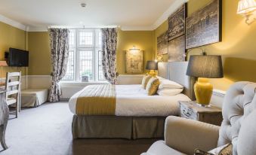
[[67, 62], [67, 68], [66, 68], [66, 74], [64, 78], [62, 79], [63, 81], [73, 81], [75, 80], [74, 76], [74, 50], [69, 50], [69, 59]]

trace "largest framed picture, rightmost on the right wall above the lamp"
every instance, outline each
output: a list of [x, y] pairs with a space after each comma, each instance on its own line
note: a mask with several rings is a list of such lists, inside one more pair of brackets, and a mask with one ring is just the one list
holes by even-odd
[[186, 49], [221, 41], [222, 1], [213, 0], [186, 20]]

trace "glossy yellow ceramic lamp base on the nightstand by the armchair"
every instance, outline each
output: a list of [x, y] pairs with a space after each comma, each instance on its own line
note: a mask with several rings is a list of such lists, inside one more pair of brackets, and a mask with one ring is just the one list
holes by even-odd
[[198, 78], [194, 85], [196, 102], [202, 106], [208, 107], [211, 101], [213, 86], [209, 83], [208, 78]]

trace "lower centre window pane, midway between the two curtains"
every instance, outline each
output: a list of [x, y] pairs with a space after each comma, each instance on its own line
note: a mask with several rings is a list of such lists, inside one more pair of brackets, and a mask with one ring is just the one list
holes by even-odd
[[89, 80], [93, 80], [92, 74], [92, 51], [91, 50], [80, 50], [79, 51], [79, 67], [80, 67], [80, 77], [82, 75], [87, 75]]

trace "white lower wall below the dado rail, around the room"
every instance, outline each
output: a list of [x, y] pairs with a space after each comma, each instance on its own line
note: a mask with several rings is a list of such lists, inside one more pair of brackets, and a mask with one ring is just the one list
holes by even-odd
[[[143, 78], [143, 74], [129, 75], [122, 74], [119, 75], [118, 83], [119, 84], [140, 84]], [[50, 75], [26, 75], [21, 78], [21, 89], [25, 89], [25, 79], [26, 79], [26, 88], [49, 88], [51, 86], [51, 76]], [[5, 78], [1, 79], [5, 81]], [[60, 87], [62, 90], [62, 99], [69, 99], [73, 94], [82, 90], [85, 86], [91, 84], [106, 84], [103, 81], [100, 82], [72, 82], [72, 81], [61, 81]], [[214, 90], [214, 93], [211, 97], [211, 105], [222, 107], [224, 100], [225, 92], [221, 90]]]

